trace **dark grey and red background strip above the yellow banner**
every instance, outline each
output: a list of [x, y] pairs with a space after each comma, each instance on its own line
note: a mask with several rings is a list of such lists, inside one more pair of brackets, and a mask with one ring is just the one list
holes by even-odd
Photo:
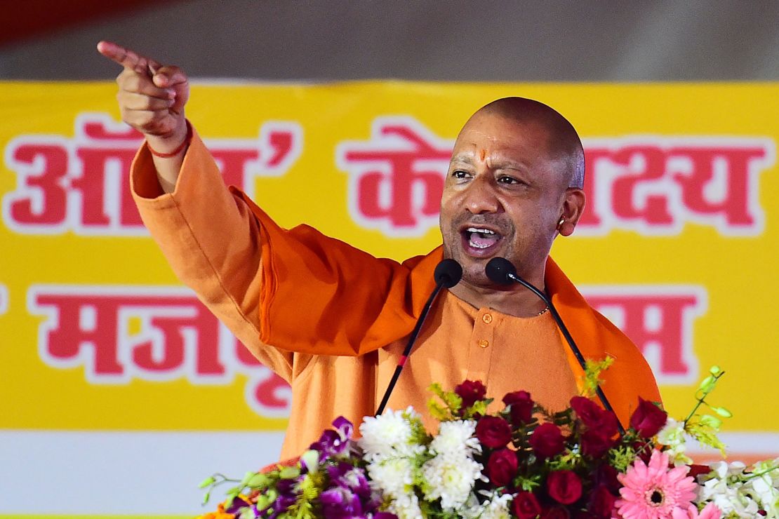
[[3, 3], [2, 79], [110, 79], [100, 39], [199, 79], [779, 79], [769, 0]]

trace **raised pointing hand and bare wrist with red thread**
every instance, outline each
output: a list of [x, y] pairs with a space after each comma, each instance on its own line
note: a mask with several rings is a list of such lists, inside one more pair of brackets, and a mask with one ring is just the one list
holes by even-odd
[[191, 137], [184, 118], [187, 76], [176, 66], [161, 65], [110, 41], [97, 44], [97, 51], [124, 67], [116, 78], [122, 120], [143, 133], [161, 188], [173, 192]]

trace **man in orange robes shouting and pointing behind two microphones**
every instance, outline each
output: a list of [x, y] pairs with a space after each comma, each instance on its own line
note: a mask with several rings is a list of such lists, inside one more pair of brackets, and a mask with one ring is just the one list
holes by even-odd
[[[115, 44], [122, 118], [146, 136], [132, 167], [141, 216], [180, 279], [267, 366], [293, 404], [282, 456], [301, 451], [343, 415], [371, 415], [444, 257], [464, 268], [432, 309], [389, 405], [425, 415], [432, 382], [482, 380], [498, 401], [525, 389], [548, 409], [576, 395], [581, 370], [545, 304], [495, 286], [490, 258], [513, 261], [545, 289], [584, 356], [612, 356], [604, 390], [626, 423], [640, 395], [659, 401], [640, 352], [594, 312], [548, 259], [584, 207], [583, 150], [568, 121], [532, 100], [478, 110], [456, 139], [441, 202], [443, 246], [402, 265], [373, 258], [308, 226], [283, 230], [240, 191], [224, 188], [184, 118], [186, 76]], [[294, 200], [291, 200], [294, 203]], [[428, 427], [433, 425], [427, 416]]]

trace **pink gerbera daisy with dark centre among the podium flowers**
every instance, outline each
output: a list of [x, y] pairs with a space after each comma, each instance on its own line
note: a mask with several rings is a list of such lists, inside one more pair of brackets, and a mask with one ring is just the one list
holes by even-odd
[[622, 488], [615, 503], [624, 519], [664, 519], [674, 511], [686, 511], [695, 499], [695, 481], [689, 467], [668, 468], [668, 454], [652, 452], [649, 464], [637, 459], [625, 474], [617, 476]]

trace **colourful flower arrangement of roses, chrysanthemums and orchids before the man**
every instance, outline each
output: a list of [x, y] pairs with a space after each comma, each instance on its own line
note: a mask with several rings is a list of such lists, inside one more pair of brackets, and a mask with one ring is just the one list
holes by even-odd
[[779, 517], [779, 459], [703, 467], [686, 456], [689, 438], [724, 454], [717, 432], [730, 413], [707, 402], [719, 368], [686, 419], [640, 400], [621, 434], [616, 416], [590, 399], [607, 367], [589, 363], [584, 395], [554, 413], [515, 391], [491, 414], [481, 382], [433, 384], [435, 436], [411, 408], [365, 418], [358, 440], [339, 418], [294, 466], [206, 479], [205, 501], [214, 487], [235, 485], [201, 517]]

